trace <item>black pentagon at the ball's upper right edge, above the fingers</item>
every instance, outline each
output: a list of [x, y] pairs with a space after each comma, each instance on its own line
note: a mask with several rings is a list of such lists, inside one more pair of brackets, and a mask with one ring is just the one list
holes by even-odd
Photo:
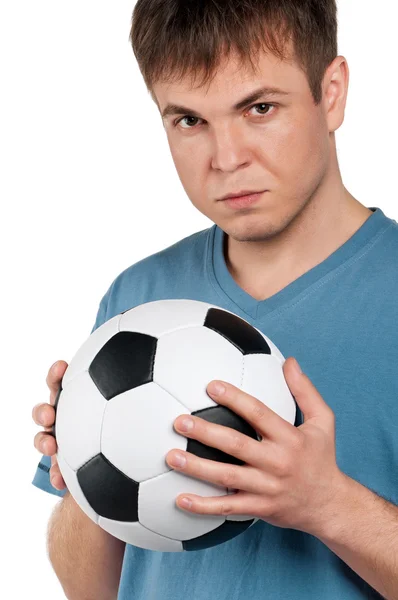
[[269, 345], [257, 329], [237, 315], [209, 308], [204, 326], [222, 335], [244, 355], [271, 354]]

